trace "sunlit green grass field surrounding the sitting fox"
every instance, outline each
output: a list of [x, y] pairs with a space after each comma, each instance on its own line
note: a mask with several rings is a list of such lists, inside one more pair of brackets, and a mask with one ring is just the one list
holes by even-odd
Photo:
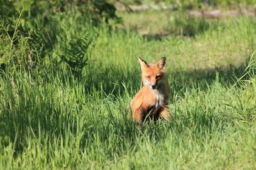
[[[50, 69], [60, 45], [36, 76], [1, 74], [0, 169], [255, 169], [255, 18], [119, 15], [123, 25], [92, 28], [99, 37], [81, 78], [63, 62]], [[67, 35], [81, 34], [68, 17]], [[127, 121], [138, 56], [167, 58], [171, 122]]]

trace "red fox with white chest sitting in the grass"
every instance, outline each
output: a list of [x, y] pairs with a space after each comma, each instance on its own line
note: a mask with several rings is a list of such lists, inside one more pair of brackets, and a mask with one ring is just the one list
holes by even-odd
[[[136, 122], [144, 122], [149, 117], [157, 120], [163, 117], [170, 120], [168, 100], [170, 87], [164, 70], [166, 69], [166, 57], [162, 57], [156, 64], [148, 64], [138, 57], [141, 67], [143, 87], [131, 101], [132, 119]], [[129, 113], [127, 115], [129, 118]]]

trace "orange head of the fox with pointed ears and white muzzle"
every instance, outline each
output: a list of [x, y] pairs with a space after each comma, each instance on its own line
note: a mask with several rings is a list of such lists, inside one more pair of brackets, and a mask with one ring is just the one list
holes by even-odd
[[162, 57], [156, 64], [148, 64], [145, 60], [138, 57], [141, 67], [141, 76], [143, 85], [147, 85], [150, 89], [157, 89], [159, 85], [166, 82], [166, 57]]

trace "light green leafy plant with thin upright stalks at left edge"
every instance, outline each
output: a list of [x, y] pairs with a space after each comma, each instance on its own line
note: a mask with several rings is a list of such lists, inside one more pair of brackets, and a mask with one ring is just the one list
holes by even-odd
[[31, 69], [42, 62], [52, 46], [49, 39], [45, 37], [43, 29], [28, 29], [22, 27], [22, 11], [19, 11], [19, 18], [15, 21], [1, 17], [0, 34], [4, 41], [1, 41], [0, 65], [2, 69], [12, 68]]

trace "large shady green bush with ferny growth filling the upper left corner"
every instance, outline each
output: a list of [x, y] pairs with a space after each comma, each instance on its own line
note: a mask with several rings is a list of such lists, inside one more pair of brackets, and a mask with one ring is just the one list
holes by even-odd
[[[76, 42], [83, 42], [77, 48], [84, 48], [83, 34], [84, 27], [99, 25], [100, 22], [110, 24], [110, 20], [114, 23], [120, 22], [120, 18], [116, 16], [116, 8], [107, 1], [99, 0], [76, 0], [76, 1], [38, 1], [38, 0], [0, 0], [0, 34], [3, 41], [0, 42], [0, 66], [1, 69], [12, 68], [13, 71], [19, 69], [32, 69], [36, 66], [44, 67], [45, 56], [52, 52], [53, 48], [58, 51], [62, 48], [64, 41], [69, 45], [77, 45]], [[77, 18], [77, 20], [76, 20]], [[76, 20], [76, 22], [73, 22]], [[77, 26], [79, 25], [79, 26]], [[88, 33], [90, 34], [90, 33]], [[63, 39], [65, 38], [65, 39]], [[90, 42], [91, 40], [88, 40]], [[81, 43], [80, 42], [80, 43]], [[92, 43], [92, 42], [91, 42]], [[65, 45], [65, 46], [69, 46]], [[90, 43], [89, 43], [90, 45]], [[78, 53], [67, 50], [67, 55], [72, 54], [72, 59]], [[77, 49], [76, 49], [77, 50]], [[76, 51], [75, 50], [75, 51]], [[81, 51], [80, 51], [81, 52]], [[62, 56], [61, 59], [67, 62], [68, 66], [75, 70], [85, 65], [88, 57], [84, 58], [87, 51], [84, 50], [83, 57], [77, 56], [76, 62], [72, 62], [67, 57]], [[83, 58], [83, 59], [82, 59]], [[51, 57], [51, 62], [54, 62]], [[82, 61], [83, 60], [83, 61]], [[77, 65], [77, 66], [74, 66]], [[56, 66], [54, 66], [56, 67]], [[9, 70], [10, 71], [10, 70]], [[77, 73], [76, 73], [77, 74]]]

